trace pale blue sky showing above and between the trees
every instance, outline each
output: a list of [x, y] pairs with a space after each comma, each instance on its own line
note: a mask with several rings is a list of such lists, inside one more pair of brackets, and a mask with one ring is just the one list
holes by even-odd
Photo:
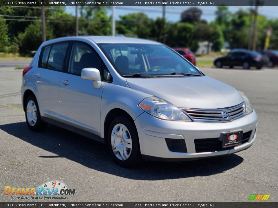
[[[168, 21], [179, 21], [180, 20], [180, 13], [183, 10], [188, 9], [189, 7], [180, 7], [180, 6], [167, 6], [166, 7], [166, 19]], [[214, 20], [215, 15], [214, 12], [216, 10], [216, 7], [207, 7], [207, 6], [200, 6], [198, 7], [202, 10], [202, 19], [206, 19], [206, 21], [210, 22]], [[239, 10], [239, 8], [242, 8], [244, 10], [249, 10], [250, 7], [229, 7], [229, 10], [231, 12], [235, 12]], [[260, 7], [259, 13], [266, 16], [267, 18], [278, 18], [278, 7]], [[67, 7], [67, 12], [74, 14], [75, 13], [75, 7]], [[162, 16], [162, 7], [154, 7], [154, 6], [148, 6], [148, 7], [116, 7], [116, 19], [119, 18], [120, 15], [129, 14], [133, 12], [144, 12], [146, 13], [150, 18], [156, 18]], [[111, 15], [111, 12], [109, 12], [108, 15]]]

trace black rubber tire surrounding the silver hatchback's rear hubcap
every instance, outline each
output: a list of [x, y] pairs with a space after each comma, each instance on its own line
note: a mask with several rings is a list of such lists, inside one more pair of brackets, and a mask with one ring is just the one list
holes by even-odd
[[[29, 101], [32, 101], [35, 106], [36, 106], [36, 122], [34, 122], [33, 125], [31, 125], [29, 122], [28, 122], [28, 118], [27, 118], [27, 106], [28, 106], [28, 103]], [[26, 101], [25, 101], [25, 104], [24, 104], [24, 111], [25, 111], [25, 119], [26, 119], [26, 123], [28, 125], [28, 127], [32, 130], [32, 131], [42, 131], [44, 130], [46, 127], [47, 127], [47, 123], [43, 122], [41, 120], [41, 114], [40, 114], [40, 110], [39, 110], [39, 105], [38, 105], [38, 102], [36, 100], [36, 97], [34, 95], [30, 95]]]

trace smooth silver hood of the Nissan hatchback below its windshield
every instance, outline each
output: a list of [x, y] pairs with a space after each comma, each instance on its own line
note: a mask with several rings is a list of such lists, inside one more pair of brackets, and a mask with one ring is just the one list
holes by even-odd
[[207, 76], [128, 78], [130, 88], [157, 96], [176, 107], [224, 108], [242, 103], [239, 92]]

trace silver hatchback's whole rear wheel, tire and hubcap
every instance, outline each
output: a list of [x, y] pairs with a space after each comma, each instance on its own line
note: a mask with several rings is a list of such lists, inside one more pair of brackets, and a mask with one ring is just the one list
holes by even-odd
[[47, 123], [41, 121], [38, 102], [34, 95], [30, 95], [25, 101], [25, 118], [28, 127], [32, 131], [41, 131], [47, 127]]

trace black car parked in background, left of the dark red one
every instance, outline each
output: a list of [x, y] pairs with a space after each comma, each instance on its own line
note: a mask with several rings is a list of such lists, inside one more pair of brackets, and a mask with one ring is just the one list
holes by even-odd
[[253, 66], [261, 69], [264, 65], [264, 60], [258, 52], [238, 49], [232, 50], [225, 57], [215, 59], [213, 63], [217, 68], [221, 68], [222, 66], [229, 66], [230, 68], [242, 66], [244, 69], [248, 69]]

